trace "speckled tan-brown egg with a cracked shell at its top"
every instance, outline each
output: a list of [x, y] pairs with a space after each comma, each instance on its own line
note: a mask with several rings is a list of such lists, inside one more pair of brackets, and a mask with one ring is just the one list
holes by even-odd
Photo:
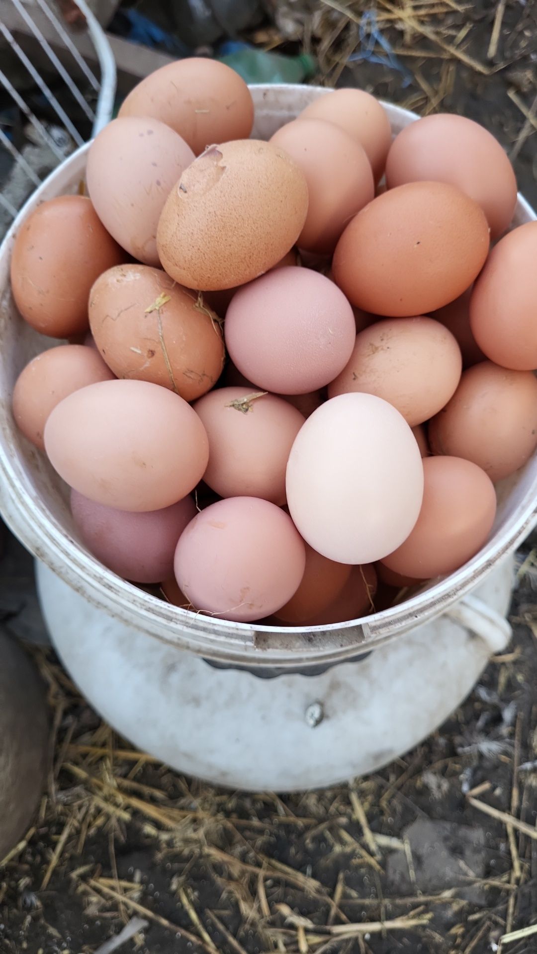
[[187, 288], [242, 285], [290, 251], [307, 212], [304, 174], [281, 149], [258, 139], [215, 146], [167, 198], [157, 232], [162, 266]]

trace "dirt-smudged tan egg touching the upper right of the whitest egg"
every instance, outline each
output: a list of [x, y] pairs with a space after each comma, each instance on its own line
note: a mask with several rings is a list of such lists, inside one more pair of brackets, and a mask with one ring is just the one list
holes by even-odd
[[356, 335], [351, 359], [329, 384], [328, 395], [376, 394], [414, 426], [447, 404], [461, 371], [459, 345], [440, 321], [386, 319]]

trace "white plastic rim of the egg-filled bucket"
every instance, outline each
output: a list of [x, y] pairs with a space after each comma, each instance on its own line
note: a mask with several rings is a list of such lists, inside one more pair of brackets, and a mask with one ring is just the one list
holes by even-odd
[[[332, 91], [298, 84], [257, 84], [250, 87], [256, 111], [271, 107], [281, 98], [278, 118], [293, 118], [316, 96]], [[304, 105], [297, 109], [297, 100]], [[382, 101], [381, 101], [382, 102]], [[293, 107], [294, 103], [294, 107]], [[419, 119], [417, 114], [382, 102], [389, 118], [399, 127]], [[273, 107], [272, 107], [273, 108]], [[45, 198], [65, 194], [75, 178], [83, 176], [90, 143], [69, 156], [48, 176], [25, 203], [0, 245], [0, 307], [10, 297], [11, 248], [22, 221]], [[517, 214], [534, 220], [536, 213], [520, 194]], [[460, 570], [428, 584], [405, 602], [387, 610], [343, 623], [313, 627], [277, 627], [258, 623], [236, 623], [204, 616], [164, 602], [140, 590], [103, 567], [72, 537], [39, 498], [21, 466], [13, 437], [11, 400], [0, 406], [0, 512], [21, 542], [39, 560], [92, 603], [126, 625], [162, 641], [203, 655], [208, 659], [247, 666], [275, 666], [283, 669], [343, 662], [364, 650], [385, 645], [401, 633], [447, 610], [466, 592], [476, 587], [503, 556], [512, 552], [537, 523], [537, 470], [531, 486], [505, 520], [505, 527], [493, 533], [476, 556]], [[537, 461], [537, 453], [534, 462]], [[526, 467], [529, 465], [526, 465]], [[57, 478], [59, 483], [59, 478]]]

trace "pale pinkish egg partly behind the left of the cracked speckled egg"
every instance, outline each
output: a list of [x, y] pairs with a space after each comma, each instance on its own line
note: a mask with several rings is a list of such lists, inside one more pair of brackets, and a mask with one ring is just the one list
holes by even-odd
[[135, 259], [158, 265], [157, 226], [172, 186], [194, 158], [180, 135], [148, 117], [113, 119], [88, 152], [97, 216]]

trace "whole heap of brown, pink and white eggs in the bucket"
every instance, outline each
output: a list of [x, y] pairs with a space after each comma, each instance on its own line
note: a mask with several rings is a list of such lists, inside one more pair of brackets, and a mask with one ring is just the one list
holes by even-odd
[[[392, 141], [369, 93], [249, 138], [246, 84], [144, 79], [85, 190], [18, 229], [20, 315], [64, 339], [14, 419], [104, 566], [217, 618], [329, 625], [459, 569], [537, 446], [537, 222], [492, 135]], [[412, 590], [411, 590], [412, 591]]]

